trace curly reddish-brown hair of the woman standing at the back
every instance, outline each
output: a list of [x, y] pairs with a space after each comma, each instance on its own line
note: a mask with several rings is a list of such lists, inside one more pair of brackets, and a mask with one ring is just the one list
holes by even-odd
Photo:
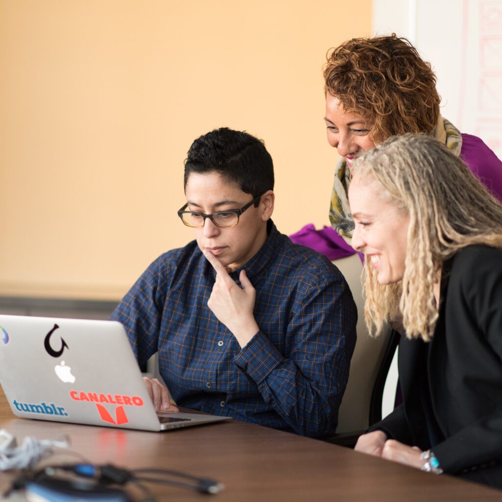
[[436, 75], [406, 38], [395, 33], [353, 38], [330, 49], [326, 59], [325, 93], [370, 122], [374, 143], [406, 133], [429, 134], [436, 126], [441, 101]]

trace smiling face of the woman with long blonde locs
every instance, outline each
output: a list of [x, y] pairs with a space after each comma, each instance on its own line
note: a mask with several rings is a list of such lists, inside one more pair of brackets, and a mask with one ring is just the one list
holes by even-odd
[[384, 187], [371, 175], [361, 178], [355, 174], [348, 189], [348, 200], [355, 225], [354, 249], [364, 250], [370, 258], [380, 284], [403, 279], [409, 214], [386, 199]]

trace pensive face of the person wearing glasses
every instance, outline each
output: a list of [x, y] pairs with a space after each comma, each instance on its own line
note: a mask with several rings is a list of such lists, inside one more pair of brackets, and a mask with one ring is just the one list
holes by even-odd
[[[226, 183], [216, 172], [191, 173], [185, 194], [187, 211], [209, 214], [227, 209], [240, 209], [253, 200], [253, 195]], [[274, 192], [267, 191], [258, 207], [252, 205], [240, 216], [237, 225], [221, 228], [206, 218], [204, 226], [195, 228], [201, 250], [208, 249], [225, 267], [236, 270], [252, 258], [267, 239], [267, 221], [274, 210]]]

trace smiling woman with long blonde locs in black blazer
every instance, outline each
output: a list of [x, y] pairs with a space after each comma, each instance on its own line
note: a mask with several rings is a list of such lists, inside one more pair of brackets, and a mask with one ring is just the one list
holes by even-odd
[[431, 136], [361, 154], [348, 190], [365, 320], [400, 313], [403, 404], [355, 449], [502, 488], [502, 204]]

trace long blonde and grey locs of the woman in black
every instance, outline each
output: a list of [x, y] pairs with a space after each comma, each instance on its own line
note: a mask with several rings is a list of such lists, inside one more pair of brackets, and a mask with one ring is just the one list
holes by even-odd
[[364, 152], [355, 176], [372, 176], [409, 214], [405, 273], [399, 283], [381, 285], [365, 260], [364, 317], [378, 335], [399, 312], [408, 338], [430, 340], [438, 318], [433, 286], [443, 262], [471, 244], [502, 248], [502, 204], [467, 166], [430, 136], [389, 138]]

